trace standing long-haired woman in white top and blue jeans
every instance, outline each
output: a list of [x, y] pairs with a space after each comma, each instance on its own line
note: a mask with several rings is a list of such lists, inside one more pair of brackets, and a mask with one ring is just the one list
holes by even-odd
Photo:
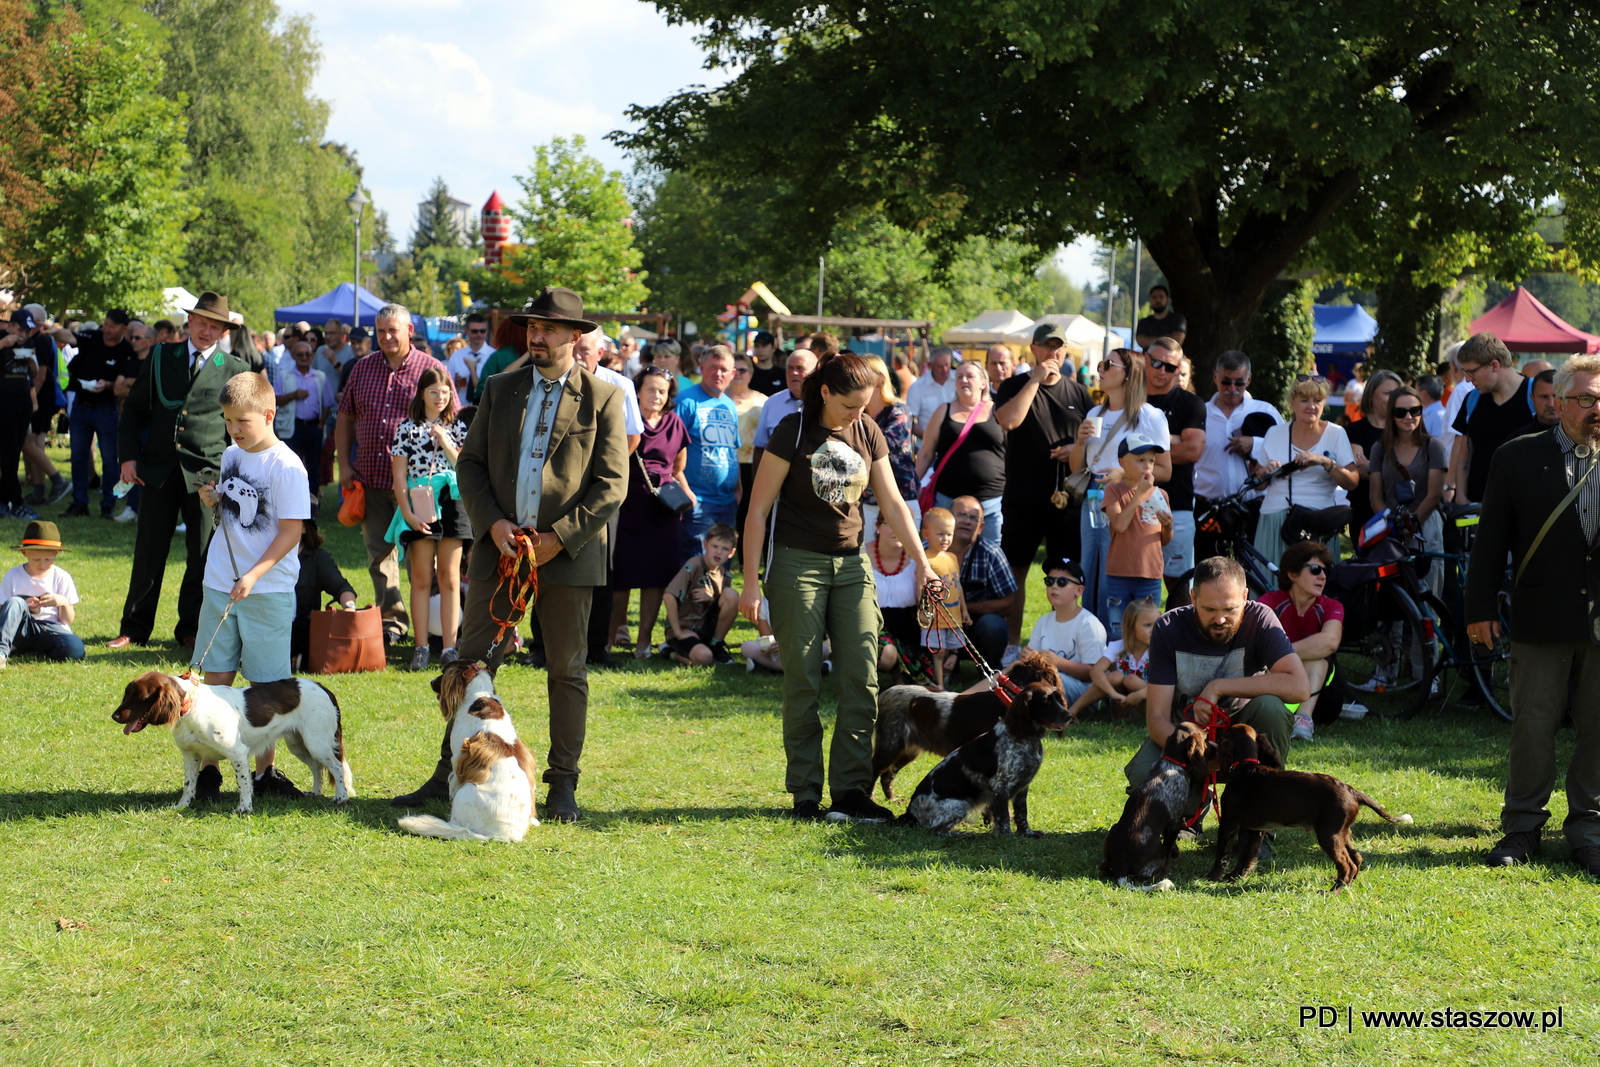
[[[1072, 446], [1070, 466], [1074, 470], [1088, 467], [1094, 472], [1094, 488], [1090, 499], [1083, 501], [1078, 531], [1083, 539], [1080, 549], [1083, 558], [1083, 606], [1094, 613], [1094, 617], [1106, 617], [1106, 552], [1110, 549], [1110, 526], [1106, 512], [1101, 510], [1101, 490], [1115, 470], [1122, 470], [1117, 459], [1117, 446], [1128, 434], [1144, 434], [1152, 442], [1168, 442], [1166, 416], [1144, 403], [1146, 363], [1133, 349], [1112, 349], [1110, 357], [1101, 362], [1101, 392], [1106, 403], [1090, 408], [1085, 418], [1099, 419], [1101, 427], [1096, 437], [1078, 434]], [[1173, 477], [1173, 456], [1165, 451], [1155, 458], [1155, 480], [1166, 482]]]

